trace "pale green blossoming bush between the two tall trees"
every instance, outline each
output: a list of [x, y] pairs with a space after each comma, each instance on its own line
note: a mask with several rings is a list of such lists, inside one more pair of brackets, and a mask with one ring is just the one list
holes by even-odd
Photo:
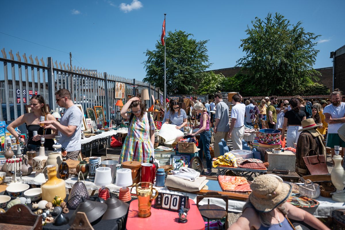
[[213, 71], [204, 72], [198, 84], [198, 94], [214, 95], [223, 89], [225, 81], [223, 74], [215, 74]]

